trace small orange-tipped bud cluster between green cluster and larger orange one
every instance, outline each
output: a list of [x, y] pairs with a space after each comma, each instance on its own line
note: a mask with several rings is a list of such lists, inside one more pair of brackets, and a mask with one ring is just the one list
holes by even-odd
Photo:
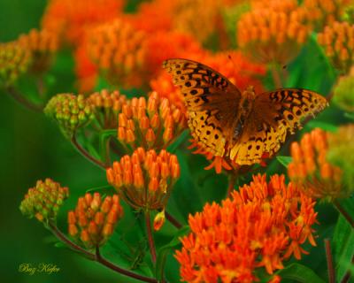
[[93, 105], [95, 117], [104, 129], [116, 129], [118, 127], [118, 115], [123, 105], [127, 104], [127, 97], [118, 90], [109, 92], [104, 89], [89, 96], [89, 102]]

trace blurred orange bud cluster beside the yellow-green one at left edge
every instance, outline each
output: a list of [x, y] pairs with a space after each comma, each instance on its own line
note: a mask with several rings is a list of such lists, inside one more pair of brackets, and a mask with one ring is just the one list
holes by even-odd
[[18, 41], [32, 53], [30, 72], [44, 73], [49, 69], [52, 57], [59, 48], [58, 34], [32, 29], [28, 34], [20, 35]]

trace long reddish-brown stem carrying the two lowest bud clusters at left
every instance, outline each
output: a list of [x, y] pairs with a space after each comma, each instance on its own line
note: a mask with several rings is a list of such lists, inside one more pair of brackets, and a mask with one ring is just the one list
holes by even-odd
[[82, 255], [86, 256], [90, 260], [96, 261], [97, 263], [103, 264], [104, 266], [108, 267], [109, 269], [112, 269], [114, 272], [118, 272], [120, 274], [126, 275], [127, 277], [134, 278], [141, 280], [143, 282], [150, 282], [150, 283], [158, 283], [157, 279], [152, 279], [150, 277], [145, 277], [140, 274], [136, 274], [134, 272], [127, 271], [123, 268], [120, 268], [119, 266], [112, 264], [108, 260], [106, 260], [104, 257], [101, 256], [99, 253], [99, 249], [96, 248], [96, 254], [89, 252], [86, 249], [82, 249], [80, 246], [76, 245], [73, 241], [70, 241], [64, 233], [62, 233], [58, 227], [53, 223], [49, 223], [50, 226], [50, 231], [58, 238], [59, 241], [65, 242], [65, 244], [70, 248], [73, 249], [74, 251], [80, 252]]

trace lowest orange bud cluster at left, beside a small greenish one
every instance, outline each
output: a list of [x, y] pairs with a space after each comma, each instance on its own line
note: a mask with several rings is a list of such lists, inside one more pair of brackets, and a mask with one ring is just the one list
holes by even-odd
[[104, 245], [122, 216], [118, 195], [103, 199], [99, 193], [86, 194], [79, 198], [75, 210], [67, 214], [68, 231], [86, 248], [94, 249]]

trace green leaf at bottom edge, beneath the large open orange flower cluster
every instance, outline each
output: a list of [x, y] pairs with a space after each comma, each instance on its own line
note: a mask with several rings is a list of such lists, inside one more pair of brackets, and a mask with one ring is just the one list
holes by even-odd
[[325, 283], [312, 269], [302, 264], [290, 264], [276, 274], [281, 276], [281, 279], [291, 279], [296, 282]]

